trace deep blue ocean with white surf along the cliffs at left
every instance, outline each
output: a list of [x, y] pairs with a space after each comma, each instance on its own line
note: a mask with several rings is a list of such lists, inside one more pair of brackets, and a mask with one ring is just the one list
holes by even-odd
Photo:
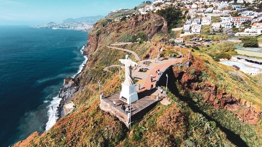
[[80, 73], [87, 33], [0, 26], [0, 146], [55, 124], [64, 78]]

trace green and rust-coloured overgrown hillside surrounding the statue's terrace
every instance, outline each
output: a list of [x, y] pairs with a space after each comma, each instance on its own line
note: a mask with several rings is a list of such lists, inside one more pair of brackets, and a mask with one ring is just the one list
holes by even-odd
[[[64, 85], [76, 85], [76, 92], [68, 100], [78, 107], [59, 119], [49, 131], [34, 133], [15, 146], [23, 146], [23, 143], [27, 146], [107, 146], [107, 126], [109, 146], [120, 142], [120, 146], [134, 147], [262, 146], [261, 74], [249, 76], [214, 61], [212, 55], [231, 51], [225, 44], [200, 47], [191, 52], [190, 67], [173, 67], [169, 71], [168, 96], [182, 108], [158, 103], [141, 116], [144, 123], [138, 125], [138, 120], [130, 130], [116, 117], [100, 110], [99, 94], [95, 94], [90, 85], [100, 80], [101, 92], [105, 96], [120, 91], [124, 79], [119, 79], [117, 70], [109, 73], [103, 68], [120, 64], [118, 59], [129, 54], [106, 46], [142, 38], [150, 43], [140, 41], [121, 48], [136, 52], [140, 59], [154, 58], [158, 52], [157, 42], [173, 36], [168, 31], [173, 23], [158, 14], [137, 15], [123, 21], [112, 21], [113, 15], [118, 16], [112, 14], [95, 24], [84, 49], [84, 54], [89, 56], [85, 69], [79, 77]], [[212, 35], [206, 37], [212, 38]], [[167, 46], [164, 50], [164, 55], [177, 54]], [[186, 59], [188, 50], [182, 48], [181, 51]], [[134, 56], [129, 55], [135, 61]], [[124, 76], [124, 70], [121, 70], [121, 76]], [[97, 85], [94, 88], [98, 91]], [[133, 132], [130, 136], [129, 131]]]

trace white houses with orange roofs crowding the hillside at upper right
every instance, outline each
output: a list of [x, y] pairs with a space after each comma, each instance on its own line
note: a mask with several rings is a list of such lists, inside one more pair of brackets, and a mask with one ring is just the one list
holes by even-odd
[[[204, 25], [214, 33], [235, 33], [235, 36], [257, 36], [262, 31], [261, 2], [256, 0], [156, 0], [146, 1], [145, 7], [136, 14], [157, 12], [166, 7], [175, 7], [187, 14], [183, 26], [185, 35], [200, 34]], [[145, 1], [144, 1], [145, 3]], [[117, 10], [116, 10], [117, 11]], [[130, 18], [130, 15], [125, 17]], [[115, 21], [122, 17], [115, 19]]]

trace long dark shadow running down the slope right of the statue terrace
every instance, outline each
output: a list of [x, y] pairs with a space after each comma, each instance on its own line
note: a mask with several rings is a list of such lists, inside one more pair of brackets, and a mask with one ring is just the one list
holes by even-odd
[[[217, 120], [213, 119], [211, 116], [208, 116], [206, 113], [204, 113], [202, 110], [199, 109], [198, 106], [196, 106], [195, 101], [193, 101], [191, 98], [188, 98], [186, 96], [180, 95], [179, 91], [176, 87], [176, 83], [174, 81], [176, 81], [176, 78], [174, 76], [173, 73], [173, 69], [170, 68], [170, 70], [167, 71], [168, 76], [168, 84], [167, 87], [170, 89], [171, 93], [173, 93], [177, 98], [179, 98], [179, 100], [185, 102], [188, 104], [188, 106], [195, 112], [195, 113], [200, 113], [202, 114], [204, 117], [206, 117], [206, 119], [208, 121], [214, 121], [217, 124], [217, 127], [220, 128], [221, 131], [223, 131], [226, 134], [227, 139], [233, 143], [235, 146], [243, 146], [246, 147], [247, 144], [241, 139], [241, 137], [238, 134], [235, 134], [234, 132], [232, 132], [231, 130], [221, 126], [220, 122], [218, 122]], [[166, 86], [166, 81], [167, 81], [167, 77], [166, 76], [162, 76], [162, 79], [159, 80], [158, 85], [161, 86]]]

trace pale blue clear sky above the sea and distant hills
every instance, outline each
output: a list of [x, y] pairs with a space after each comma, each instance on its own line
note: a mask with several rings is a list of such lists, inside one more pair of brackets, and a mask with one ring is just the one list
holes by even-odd
[[106, 16], [142, 0], [0, 0], [0, 25], [42, 25], [67, 18]]

